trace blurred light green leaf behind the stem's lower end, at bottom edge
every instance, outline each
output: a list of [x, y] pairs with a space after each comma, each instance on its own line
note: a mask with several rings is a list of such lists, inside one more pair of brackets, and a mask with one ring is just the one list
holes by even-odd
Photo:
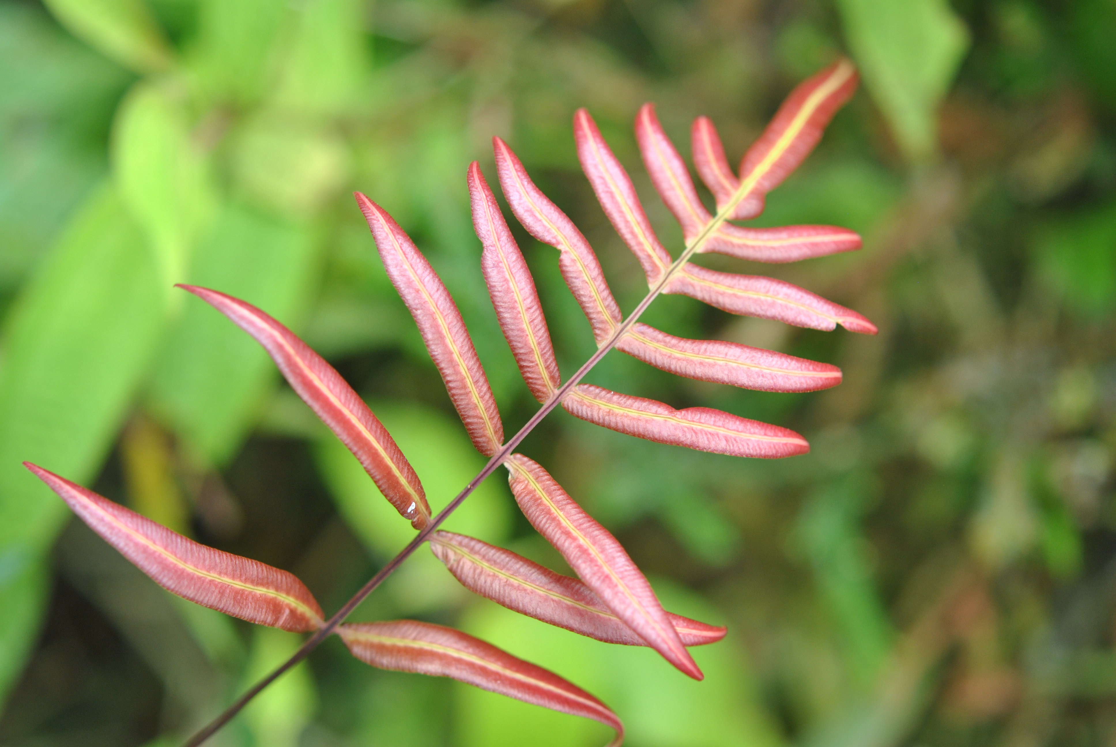
[[[266, 677], [301, 644], [302, 636], [297, 633], [257, 625], [242, 689]], [[244, 720], [256, 747], [296, 747], [317, 709], [317, 688], [304, 661], [252, 700], [244, 708]]]

